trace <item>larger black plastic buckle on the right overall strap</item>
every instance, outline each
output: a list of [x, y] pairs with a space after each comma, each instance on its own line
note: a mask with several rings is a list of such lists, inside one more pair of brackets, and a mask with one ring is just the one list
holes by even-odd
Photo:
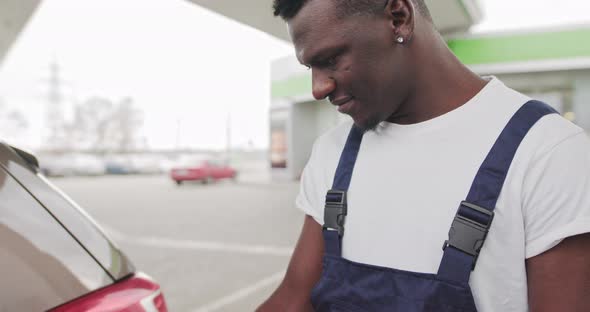
[[[466, 207], [475, 210], [476, 213], [484, 214], [487, 216], [489, 221], [487, 223], [481, 223], [473, 218], [469, 218], [464, 214], [460, 214], [461, 207]], [[485, 242], [492, 221], [494, 220], [494, 212], [483, 207], [468, 203], [461, 202], [461, 206], [455, 215], [451, 229], [449, 230], [449, 239], [445, 241], [443, 250], [448, 246], [453, 246], [467, 254], [475, 257], [473, 260], [473, 268], [475, 268], [475, 262], [479, 256], [479, 251]], [[472, 268], [472, 270], [473, 270]]]

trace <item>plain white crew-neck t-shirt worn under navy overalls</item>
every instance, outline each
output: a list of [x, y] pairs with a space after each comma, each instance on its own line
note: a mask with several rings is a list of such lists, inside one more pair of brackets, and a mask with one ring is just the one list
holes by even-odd
[[[368, 132], [348, 192], [343, 257], [436, 273], [459, 203], [513, 114], [529, 100], [496, 78], [473, 99], [411, 125]], [[352, 121], [321, 136], [303, 172], [297, 206], [323, 224], [326, 191]], [[480, 312], [527, 311], [525, 259], [590, 232], [590, 139], [557, 114], [521, 143], [469, 284]]]

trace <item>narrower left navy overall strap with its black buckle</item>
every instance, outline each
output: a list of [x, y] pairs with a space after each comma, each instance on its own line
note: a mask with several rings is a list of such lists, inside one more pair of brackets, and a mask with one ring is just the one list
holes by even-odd
[[344, 235], [344, 219], [347, 214], [346, 193], [362, 139], [363, 131], [353, 125], [340, 155], [332, 189], [326, 194], [323, 235], [326, 254], [329, 255], [341, 256], [342, 254], [342, 235]]

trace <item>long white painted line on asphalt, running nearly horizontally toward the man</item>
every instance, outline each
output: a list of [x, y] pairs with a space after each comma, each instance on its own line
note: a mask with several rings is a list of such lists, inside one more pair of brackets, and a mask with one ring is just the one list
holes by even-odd
[[124, 242], [128, 244], [142, 245], [148, 247], [218, 251], [287, 257], [291, 256], [291, 253], [293, 252], [293, 248], [278, 246], [231, 244], [211, 241], [176, 240], [159, 237], [132, 237], [109, 227], [103, 226], [103, 228], [106, 230], [107, 233], [109, 233], [109, 236], [111, 236], [116, 242]]

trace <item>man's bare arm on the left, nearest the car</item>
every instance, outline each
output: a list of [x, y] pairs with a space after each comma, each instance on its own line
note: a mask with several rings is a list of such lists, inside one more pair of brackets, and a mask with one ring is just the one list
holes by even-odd
[[322, 273], [324, 241], [322, 226], [305, 216], [299, 241], [295, 246], [285, 278], [257, 312], [313, 311], [310, 293]]

